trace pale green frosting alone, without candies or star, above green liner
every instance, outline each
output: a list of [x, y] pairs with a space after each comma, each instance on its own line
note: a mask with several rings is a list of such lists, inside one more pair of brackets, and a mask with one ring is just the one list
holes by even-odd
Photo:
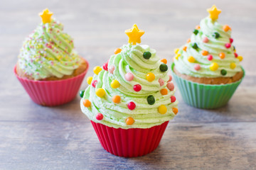
[[[213, 33], [219, 33], [219, 38], [214, 38]], [[226, 43], [230, 43], [231, 31], [225, 32], [223, 26], [218, 21], [212, 21], [212, 19], [206, 17], [201, 20], [200, 29], [198, 33], [191, 35], [191, 42], [183, 45], [179, 51], [178, 60], [175, 59], [175, 68], [181, 74], [187, 74], [192, 77], [233, 77], [237, 72], [241, 72], [241, 65], [238, 58], [235, 58], [235, 47], [231, 44], [230, 48], [225, 47]], [[203, 38], [207, 37], [208, 42], [203, 42]], [[193, 43], [196, 42], [198, 48], [192, 47]], [[186, 51], [183, 47], [187, 47]], [[207, 56], [201, 54], [202, 50], [208, 51], [208, 55], [213, 55], [213, 60], [208, 60]], [[225, 58], [220, 59], [220, 52], [225, 53]], [[188, 57], [193, 56], [196, 62], [188, 62]], [[215, 71], [210, 70], [210, 64], [216, 62], [218, 69]], [[230, 68], [230, 63], [236, 64], [235, 69]], [[200, 64], [201, 69], [194, 69], [195, 64]], [[221, 74], [221, 70], [225, 69], [227, 74]]]

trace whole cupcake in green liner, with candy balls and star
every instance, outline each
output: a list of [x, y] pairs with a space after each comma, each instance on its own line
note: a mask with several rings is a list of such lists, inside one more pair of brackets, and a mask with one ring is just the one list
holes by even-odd
[[224, 106], [245, 76], [231, 38], [231, 28], [218, 23], [220, 10], [210, 14], [193, 30], [186, 45], [175, 50], [171, 70], [183, 100], [197, 108]]

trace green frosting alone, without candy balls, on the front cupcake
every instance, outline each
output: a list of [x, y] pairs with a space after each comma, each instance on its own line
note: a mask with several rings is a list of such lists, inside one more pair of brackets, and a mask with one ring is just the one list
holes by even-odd
[[[111, 74], [102, 69], [98, 75], [94, 75], [93, 80], [97, 80], [95, 88], [90, 85], [85, 90], [85, 94], [81, 100], [80, 106], [82, 112], [95, 123], [102, 123], [114, 128], [151, 128], [154, 125], [161, 125], [167, 120], [174, 118], [175, 114], [172, 108], [177, 108], [178, 101], [171, 103], [171, 96], [174, 96], [174, 91], [169, 91], [167, 95], [161, 95], [160, 90], [166, 88], [169, 76], [167, 72], [161, 72], [159, 65], [159, 57], [156, 56], [156, 50], [150, 49], [148, 45], [123, 45], [122, 52], [117, 55], [112, 55], [108, 62], [108, 67], [114, 66], [114, 72]], [[149, 60], [144, 59], [144, 52], [151, 52]], [[127, 81], [124, 77], [127, 73], [132, 73], [134, 79]], [[146, 74], [154, 73], [154, 81], [147, 81]], [[164, 85], [160, 86], [159, 79], [164, 80]], [[112, 89], [111, 82], [113, 80], [119, 81], [119, 88]], [[92, 80], [92, 81], [93, 81]], [[133, 86], [140, 84], [142, 90], [134, 91]], [[106, 94], [100, 98], [96, 96], [95, 91], [98, 88], [105, 89]], [[166, 88], [167, 89], [167, 88]], [[113, 103], [113, 96], [120, 96], [120, 103]], [[153, 95], [155, 103], [149, 105], [147, 97]], [[88, 99], [91, 106], [86, 108], [82, 101]], [[136, 104], [134, 110], [127, 108], [127, 103], [133, 101]], [[160, 114], [158, 107], [164, 105], [167, 108], [165, 114]], [[97, 113], [102, 113], [103, 120], [97, 120]], [[127, 125], [126, 119], [132, 117], [134, 119], [133, 125]]]

